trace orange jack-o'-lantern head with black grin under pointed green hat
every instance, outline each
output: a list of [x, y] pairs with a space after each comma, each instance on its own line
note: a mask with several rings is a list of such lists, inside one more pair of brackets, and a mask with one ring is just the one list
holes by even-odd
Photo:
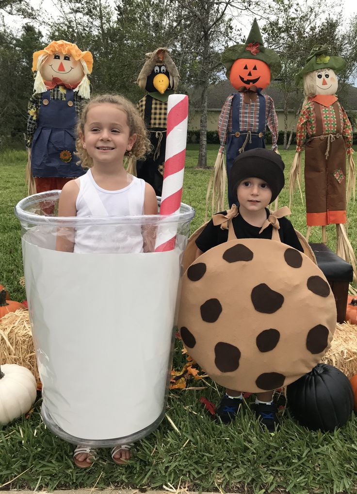
[[232, 65], [229, 80], [236, 89], [242, 86], [249, 89], [253, 85], [265, 89], [270, 84], [270, 69], [261, 60], [238, 58]]

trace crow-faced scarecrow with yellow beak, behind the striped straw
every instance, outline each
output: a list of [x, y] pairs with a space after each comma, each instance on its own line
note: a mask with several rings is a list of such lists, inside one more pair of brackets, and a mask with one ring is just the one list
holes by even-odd
[[137, 162], [137, 175], [161, 196], [165, 163], [167, 101], [178, 86], [178, 70], [166, 48], [146, 53], [146, 61], [138, 77], [138, 84], [147, 94], [139, 101], [138, 109], [150, 133], [152, 152]]

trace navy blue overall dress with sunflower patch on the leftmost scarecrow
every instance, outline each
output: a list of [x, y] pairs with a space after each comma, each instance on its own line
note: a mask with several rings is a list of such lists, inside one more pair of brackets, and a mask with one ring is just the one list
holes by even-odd
[[66, 100], [51, 99], [50, 90], [42, 93], [31, 147], [34, 177], [75, 178], [86, 172], [74, 156], [76, 121], [73, 89], [66, 90]]

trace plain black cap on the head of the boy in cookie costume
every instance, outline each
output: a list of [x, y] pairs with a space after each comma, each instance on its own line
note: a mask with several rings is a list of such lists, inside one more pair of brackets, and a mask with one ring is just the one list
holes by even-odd
[[272, 203], [284, 187], [284, 168], [285, 164], [281, 156], [275, 151], [265, 148], [244, 151], [234, 160], [230, 171], [231, 193], [237, 197], [237, 187], [245, 178], [260, 178], [269, 185], [272, 191], [270, 200]]

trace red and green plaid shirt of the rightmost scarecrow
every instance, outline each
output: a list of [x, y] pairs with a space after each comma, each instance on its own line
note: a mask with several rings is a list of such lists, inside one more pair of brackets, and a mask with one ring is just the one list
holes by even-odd
[[[353, 144], [353, 130], [352, 130], [352, 125], [346, 115], [345, 110], [342, 108], [340, 103], [337, 101], [338, 104], [338, 109], [339, 109], [339, 116], [340, 116], [340, 121], [343, 122], [343, 132], [342, 136], [345, 140], [346, 147], [347, 147], [347, 154], [352, 154], [353, 149], [352, 149], [352, 144]], [[336, 134], [336, 126], [337, 126], [337, 120], [336, 120], [336, 115], [335, 111], [331, 106], [323, 106], [319, 105], [319, 108], [321, 110], [321, 120], [322, 120], [322, 128], [323, 128], [323, 134], [328, 135], [328, 134]], [[301, 151], [304, 150], [304, 141], [306, 138], [306, 135], [309, 137], [315, 137], [316, 136], [316, 115], [315, 115], [315, 106], [314, 106], [314, 100], [312, 98], [309, 98], [309, 101], [306, 103], [306, 105], [303, 106], [299, 120], [297, 122], [296, 126], [296, 152], [300, 153]]]

